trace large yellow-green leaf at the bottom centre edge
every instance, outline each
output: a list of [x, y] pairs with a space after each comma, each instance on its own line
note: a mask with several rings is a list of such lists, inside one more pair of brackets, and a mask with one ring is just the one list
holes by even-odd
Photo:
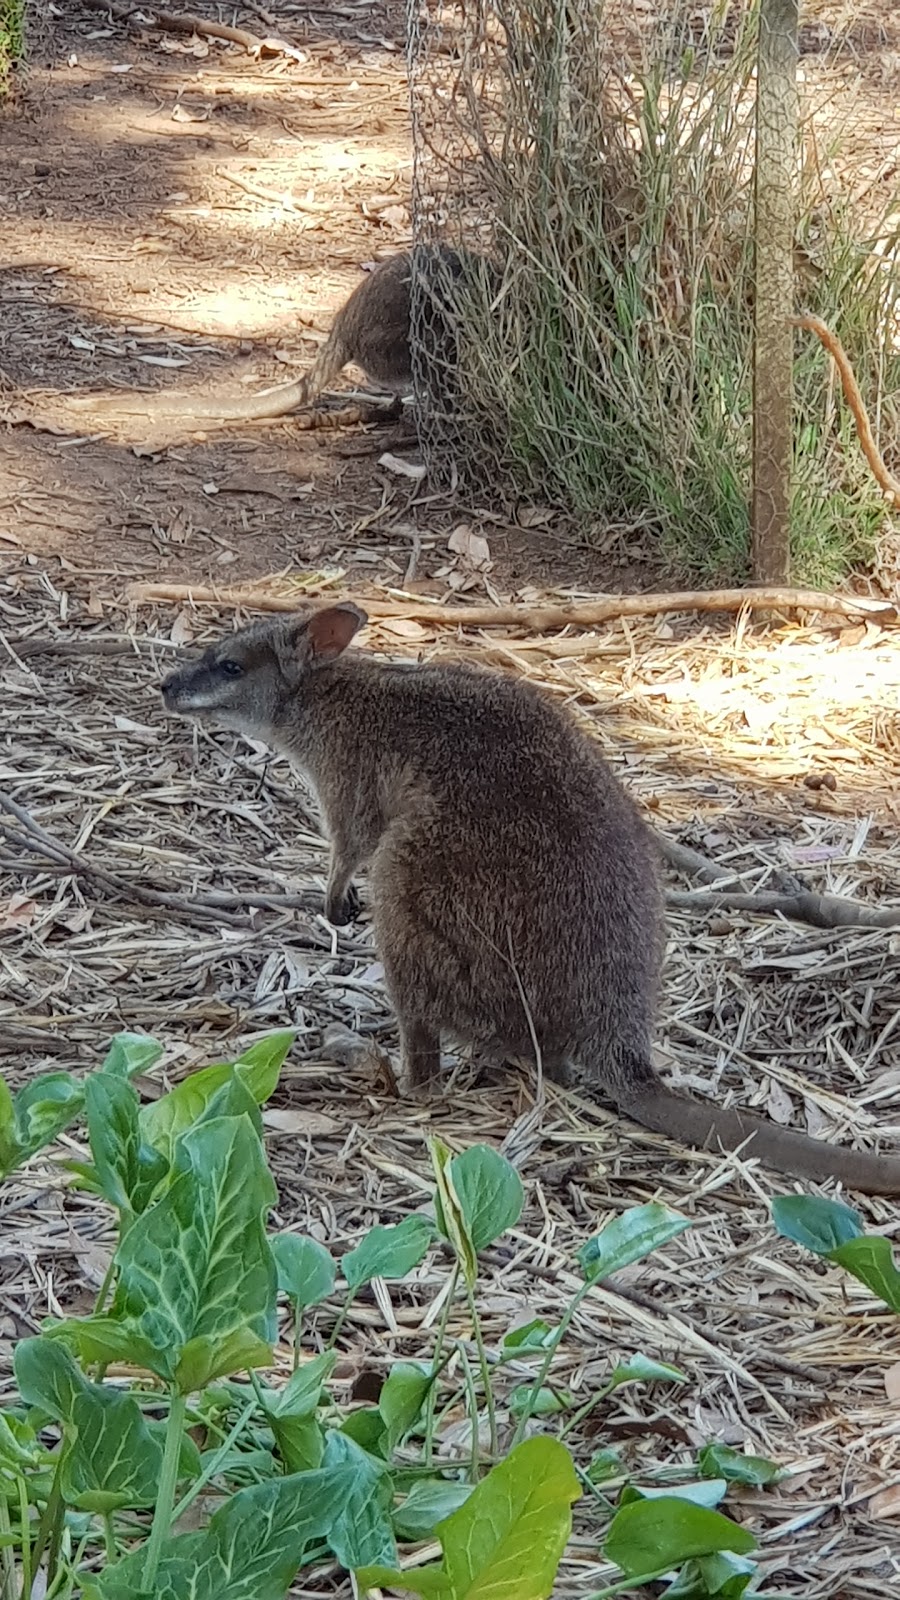
[[464, 1506], [434, 1530], [440, 1566], [360, 1571], [362, 1589], [384, 1584], [436, 1600], [548, 1600], [578, 1499], [572, 1456], [556, 1438], [527, 1438], [492, 1467]]

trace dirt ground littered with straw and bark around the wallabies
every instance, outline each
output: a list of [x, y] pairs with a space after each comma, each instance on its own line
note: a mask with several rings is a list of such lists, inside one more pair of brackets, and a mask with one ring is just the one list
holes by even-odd
[[[213, 0], [191, 10], [219, 14]], [[552, 1378], [581, 1402], [642, 1350], [689, 1382], [612, 1395], [573, 1437], [580, 1462], [613, 1445], [658, 1483], [708, 1440], [770, 1454], [785, 1482], [730, 1502], [759, 1539], [762, 1592], [884, 1597], [900, 1578], [897, 1318], [775, 1238], [769, 1202], [793, 1186], [751, 1162], [676, 1150], [580, 1093], [551, 1090], [538, 1115], [525, 1074], [469, 1062], [440, 1101], [404, 1102], [359, 1048], [396, 1046], [368, 920], [336, 934], [320, 915], [325, 850], [290, 774], [160, 714], [176, 646], [227, 613], [123, 598], [133, 579], [285, 570], [448, 598], [461, 558], [447, 539], [461, 526], [495, 563], [466, 598], [663, 576], [634, 536], [560, 546], [556, 526], [520, 528], [508, 507], [434, 498], [380, 464], [384, 451], [415, 459], [399, 424], [171, 437], [138, 422], [114, 438], [74, 426], [78, 395], [239, 392], [304, 368], [360, 267], [408, 242], [402, 6], [227, 10], [303, 59], [130, 30], [80, 0], [46, 13], [0, 139], [0, 798], [40, 830], [0, 818], [0, 1067], [13, 1083], [86, 1067], [136, 1027], [163, 1040], [175, 1080], [291, 1022], [298, 1045], [267, 1114], [279, 1226], [341, 1254], [428, 1202], [428, 1133], [503, 1144], [527, 1210], [484, 1264], [493, 1342], [527, 1317], [559, 1318], [577, 1248], [625, 1206], [685, 1210], [689, 1234], [588, 1298]], [[834, 30], [830, 82], [860, 107], [858, 182], [890, 184], [894, 0], [807, 6], [804, 26], [809, 74], [815, 30]], [[577, 704], [660, 832], [745, 891], [900, 909], [897, 630], [673, 614], [557, 638], [456, 637], [399, 616], [370, 638], [392, 654], [468, 651]], [[831, 1142], [900, 1146], [898, 931], [714, 910], [684, 899], [703, 885], [674, 870], [666, 882], [682, 899], [669, 906], [661, 1069]], [[66, 1154], [80, 1154], [77, 1134]], [[895, 1237], [890, 1202], [862, 1210]], [[86, 1307], [110, 1246], [101, 1208], [48, 1162], [5, 1186], [2, 1224], [0, 1398], [14, 1339], [61, 1304]], [[341, 1398], [423, 1355], [445, 1282], [429, 1259], [360, 1298], [340, 1342]], [[325, 1306], [312, 1341], [333, 1317]], [[471, 1352], [464, 1306], [450, 1330]], [[287, 1370], [287, 1344], [277, 1358]], [[511, 1382], [522, 1376], [514, 1365]], [[445, 1450], [460, 1446], [456, 1422]], [[586, 1498], [559, 1600], [613, 1581], [604, 1525]], [[349, 1600], [349, 1584], [322, 1571], [296, 1595]]]

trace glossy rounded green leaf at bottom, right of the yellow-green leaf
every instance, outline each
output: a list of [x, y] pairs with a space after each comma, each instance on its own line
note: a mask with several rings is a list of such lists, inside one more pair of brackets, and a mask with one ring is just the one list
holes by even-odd
[[610, 1523], [604, 1554], [626, 1578], [668, 1571], [698, 1555], [730, 1550], [749, 1555], [756, 1539], [746, 1528], [674, 1494], [623, 1506]]

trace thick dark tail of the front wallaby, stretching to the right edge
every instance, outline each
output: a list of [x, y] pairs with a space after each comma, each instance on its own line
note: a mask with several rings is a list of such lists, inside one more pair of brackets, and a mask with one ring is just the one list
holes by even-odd
[[657, 1078], [649, 1062], [629, 1064], [615, 1086], [618, 1109], [652, 1133], [661, 1133], [700, 1149], [719, 1144], [741, 1149], [765, 1166], [790, 1178], [838, 1178], [847, 1189], [868, 1195], [900, 1194], [900, 1158], [826, 1144], [791, 1133], [746, 1112], [725, 1110], [687, 1094], [677, 1094]]

